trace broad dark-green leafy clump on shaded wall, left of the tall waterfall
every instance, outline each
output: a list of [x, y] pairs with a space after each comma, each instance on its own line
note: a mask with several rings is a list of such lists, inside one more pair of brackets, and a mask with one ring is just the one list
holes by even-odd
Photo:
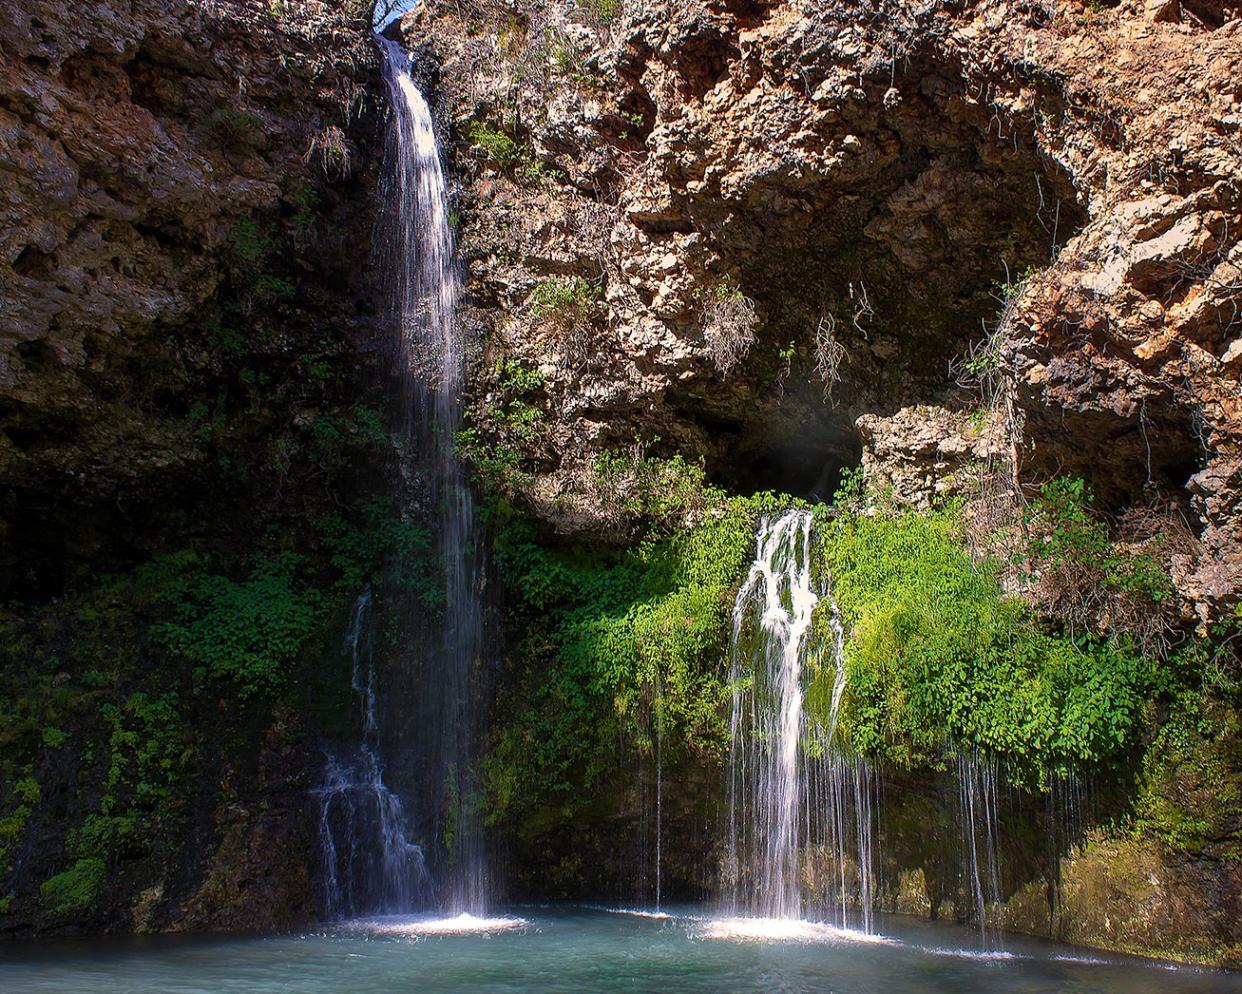
[[278, 690], [309, 637], [322, 596], [299, 577], [303, 559], [278, 553], [233, 580], [207, 573], [193, 554], [163, 558], [159, 599], [171, 620], [152, 634], [170, 652], [229, 680], [242, 698]]

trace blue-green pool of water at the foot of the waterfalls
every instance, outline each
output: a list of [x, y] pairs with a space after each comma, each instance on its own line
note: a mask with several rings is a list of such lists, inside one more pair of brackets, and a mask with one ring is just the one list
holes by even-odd
[[673, 910], [518, 907], [278, 937], [0, 943], [0, 990], [127, 994], [1242, 994], [1242, 977], [879, 919], [877, 936]]

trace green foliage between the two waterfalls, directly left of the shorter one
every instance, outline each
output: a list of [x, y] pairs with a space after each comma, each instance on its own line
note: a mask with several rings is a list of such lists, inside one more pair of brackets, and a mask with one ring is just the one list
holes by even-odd
[[756, 517], [771, 504], [720, 502], [694, 528], [615, 557], [548, 549], [502, 509], [497, 562], [528, 631], [529, 668], [488, 760], [492, 820], [538, 830], [590, 803], [632, 750], [651, 748], [656, 722], [666, 754], [722, 754], [728, 619]]

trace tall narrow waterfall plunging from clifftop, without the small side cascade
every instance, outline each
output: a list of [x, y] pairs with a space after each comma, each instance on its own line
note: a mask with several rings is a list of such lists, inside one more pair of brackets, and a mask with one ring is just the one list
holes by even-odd
[[453, 911], [478, 911], [488, 886], [474, 780], [471, 677], [483, 647], [481, 549], [474, 507], [453, 449], [462, 421], [467, 343], [457, 321], [458, 273], [448, 186], [435, 123], [401, 46], [375, 35], [392, 108], [390, 226], [392, 349], [401, 384], [406, 478], [431, 516], [443, 569], [443, 616], [421, 647], [407, 717], [412, 762], [436, 813], [440, 892]]

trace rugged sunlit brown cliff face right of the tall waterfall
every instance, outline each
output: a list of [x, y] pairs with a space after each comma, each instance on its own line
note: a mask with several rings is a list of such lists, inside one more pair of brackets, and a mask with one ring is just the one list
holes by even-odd
[[[474, 7], [405, 30], [458, 138], [481, 410], [498, 357], [544, 374], [537, 431], [478, 420], [550, 523], [590, 531], [591, 460], [636, 440], [740, 488], [822, 492], [862, 460], [915, 503], [991, 446], [1109, 508], [1174, 495], [1237, 598], [1236, 5]], [[601, 306], [555, 327], [535, 291], [570, 277]], [[754, 303], [730, 363], [712, 294]], [[964, 358], [989, 337], [980, 391]], [[997, 403], [995, 445], [922, 414], [902, 437], [915, 408]]]

